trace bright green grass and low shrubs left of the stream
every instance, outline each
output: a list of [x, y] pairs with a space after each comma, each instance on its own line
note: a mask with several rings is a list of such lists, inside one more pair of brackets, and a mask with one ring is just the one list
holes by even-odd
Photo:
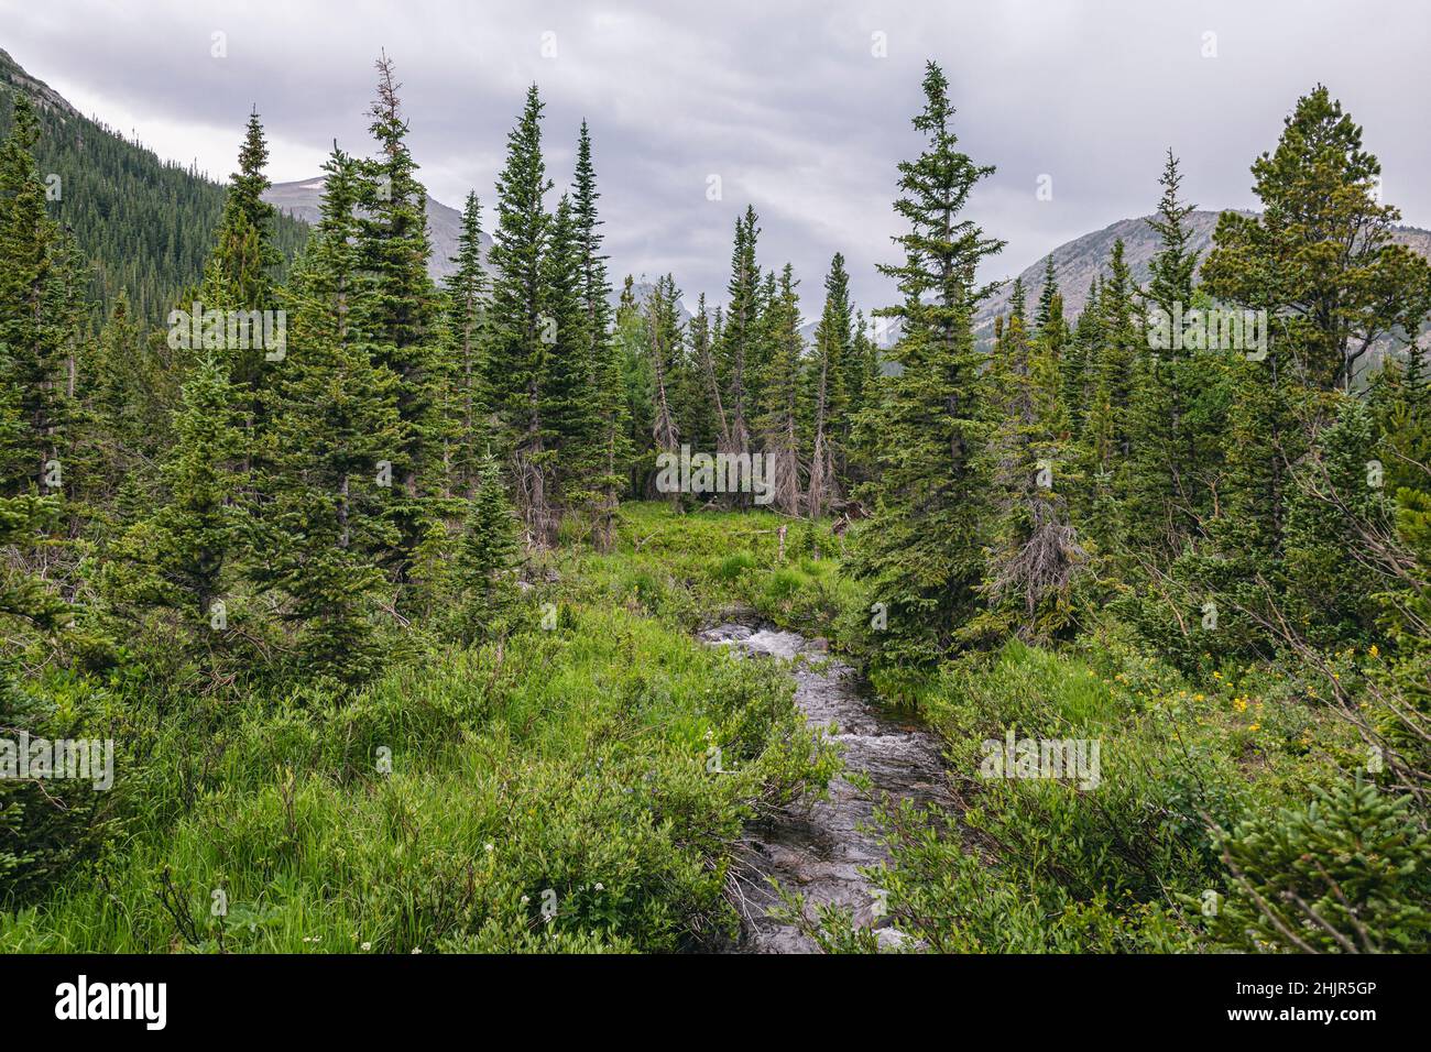
[[[409, 646], [345, 704], [123, 698], [112, 836], [0, 913], [0, 950], [660, 952], [728, 937], [731, 843], [764, 809], [820, 792], [836, 761], [787, 673], [690, 634], [704, 610], [760, 598], [770, 520], [622, 511], [617, 551], [557, 552], [555, 583], [511, 637]], [[721, 552], [751, 562], [724, 581]]]

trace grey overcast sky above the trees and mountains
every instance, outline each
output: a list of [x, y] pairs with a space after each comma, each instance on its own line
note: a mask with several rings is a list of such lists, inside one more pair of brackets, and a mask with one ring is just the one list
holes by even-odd
[[1431, 226], [1420, 0], [0, 0], [0, 47], [86, 113], [220, 177], [258, 106], [275, 182], [316, 175], [335, 137], [366, 150], [386, 49], [421, 176], [454, 206], [469, 187], [489, 205], [537, 82], [558, 186], [591, 123], [614, 281], [673, 271], [691, 303], [724, 299], [747, 202], [761, 265], [796, 265], [807, 315], [837, 250], [861, 305], [890, 302], [874, 263], [896, 260], [894, 162], [920, 146], [909, 120], [926, 59], [949, 76], [963, 149], [997, 166], [972, 203], [1009, 242], [986, 278], [1152, 210], [1169, 146], [1191, 200], [1255, 206], [1249, 163], [1318, 82], [1364, 126], [1385, 199]]

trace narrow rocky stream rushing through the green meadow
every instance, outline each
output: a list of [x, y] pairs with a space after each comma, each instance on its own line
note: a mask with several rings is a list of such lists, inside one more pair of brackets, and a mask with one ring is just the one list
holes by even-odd
[[[917, 723], [880, 711], [860, 693], [854, 670], [831, 660], [823, 641], [798, 633], [744, 624], [723, 624], [701, 633], [703, 641], [738, 648], [747, 656], [797, 661], [796, 704], [817, 727], [837, 726], [846, 769], [864, 771], [877, 799], [916, 803], [944, 802], [944, 766], [936, 739]], [[814, 664], [810, 664], [813, 661]], [[814, 903], [836, 903], [854, 910], [857, 923], [873, 925], [881, 946], [903, 942], [902, 932], [876, 916], [876, 889], [860, 875], [887, 857], [867, 832], [874, 800], [846, 779], [830, 783], [827, 800], [798, 804], [771, 822], [748, 830], [747, 844], [763, 877]], [[767, 882], [743, 882], [746, 923], [738, 950], [747, 953], [803, 953], [814, 943], [796, 927], [768, 915], [778, 896]]]

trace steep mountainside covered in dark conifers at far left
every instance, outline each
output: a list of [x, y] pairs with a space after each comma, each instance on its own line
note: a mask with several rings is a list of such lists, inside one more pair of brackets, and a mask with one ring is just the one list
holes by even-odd
[[[93, 266], [90, 295], [110, 303], [123, 291], [153, 323], [196, 283], [223, 212], [225, 187], [83, 116], [59, 92], [0, 50], [0, 136], [10, 132], [11, 96], [23, 92], [40, 120], [40, 173], [57, 190], [50, 215], [64, 223]], [[243, 137], [233, 129], [233, 150]], [[303, 243], [302, 223], [282, 218], [275, 242], [285, 259]], [[282, 276], [282, 275], [280, 275]]]

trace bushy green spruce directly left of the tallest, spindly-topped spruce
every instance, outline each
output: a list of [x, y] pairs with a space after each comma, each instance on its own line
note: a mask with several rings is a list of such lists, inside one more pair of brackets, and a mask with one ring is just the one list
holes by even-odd
[[258, 580], [286, 597], [305, 674], [356, 684], [376, 664], [375, 611], [395, 544], [379, 464], [401, 434], [396, 375], [372, 359], [356, 322], [356, 165], [335, 150], [309, 252], [295, 265], [292, 355], [279, 388], [268, 558]]

